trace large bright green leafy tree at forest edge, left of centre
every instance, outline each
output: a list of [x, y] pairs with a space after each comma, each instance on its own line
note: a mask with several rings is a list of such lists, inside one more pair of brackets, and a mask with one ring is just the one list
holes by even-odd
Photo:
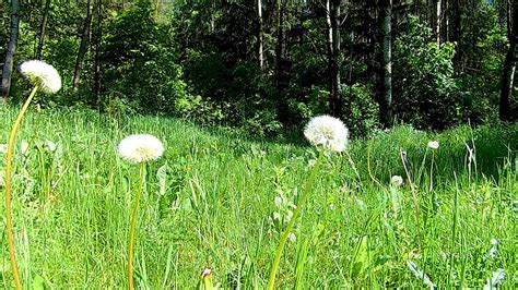
[[177, 112], [176, 100], [189, 97], [174, 47], [165, 27], [153, 21], [149, 1], [114, 12], [103, 44], [103, 106], [110, 107], [117, 96], [137, 112]]

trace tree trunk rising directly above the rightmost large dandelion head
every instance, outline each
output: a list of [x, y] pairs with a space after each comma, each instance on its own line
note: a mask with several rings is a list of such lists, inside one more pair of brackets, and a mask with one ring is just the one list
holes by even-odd
[[332, 116], [340, 117], [342, 109], [340, 98], [340, 0], [327, 0], [326, 10], [326, 22], [328, 25], [329, 109]]

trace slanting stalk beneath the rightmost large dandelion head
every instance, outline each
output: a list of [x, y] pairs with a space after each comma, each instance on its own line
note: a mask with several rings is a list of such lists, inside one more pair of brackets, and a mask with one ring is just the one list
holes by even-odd
[[323, 159], [323, 148], [320, 149], [320, 154], [318, 156], [317, 162], [313, 167], [313, 170], [309, 174], [309, 178], [306, 181], [306, 184], [304, 186], [304, 192], [301, 195], [301, 198], [298, 198], [297, 207], [293, 212], [292, 219], [290, 220], [286, 228], [284, 229], [284, 232], [282, 233], [281, 242], [279, 243], [279, 246], [276, 249], [275, 259], [273, 261], [273, 265], [272, 265], [272, 268], [270, 270], [270, 278], [268, 279], [268, 289], [269, 290], [273, 290], [273, 287], [275, 285], [276, 270], [279, 268], [279, 263], [281, 262], [282, 252], [284, 250], [284, 246], [286, 245], [287, 237], [290, 235], [290, 232], [293, 228], [293, 225], [295, 223], [295, 220], [297, 219], [297, 216], [301, 213], [302, 207], [303, 207], [304, 203], [306, 202], [306, 200], [309, 195], [309, 192], [311, 191], [313, 184], [315, 183], [315, 178], [316, 178], [317, 172], [318, 172], [318, 168], [320, 167], [320, 164], [322, 162], [322, 159]]

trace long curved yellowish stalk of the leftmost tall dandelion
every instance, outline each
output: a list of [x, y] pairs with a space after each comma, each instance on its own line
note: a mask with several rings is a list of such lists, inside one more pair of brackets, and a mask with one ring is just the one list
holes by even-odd
[[14, 154], [14, 141], [16, 138], [16, 133], [22, 123], [23, 116], [28, 108], [28, 105], [36, 95], [39, 86], [35, 85], [31, 95], [28, 96], [27, 100], [23, 105], [22, 109], [20, 110], [16, 120], [14, 121], [13, 128], [11, 129], [11, 133], [9, 135], [8, 141], [8, 149], [7, 149], [7, 160], [5, 160], [5, 232], [8, 235], [8, 245], [9, 245], [9, 258], [11, 261], [11, 268], [13, 270], [13, 279], [16, 289], [22, 289], [22, 282], [20, 281], [20, 273], [17, 270], [16, 264], [16, 253], [14, 250], [14, 238], [13, 238], [13, 223], [12, 223], [12, 212], [11, 212], [11, 201], [12, 201], [12, 160]]

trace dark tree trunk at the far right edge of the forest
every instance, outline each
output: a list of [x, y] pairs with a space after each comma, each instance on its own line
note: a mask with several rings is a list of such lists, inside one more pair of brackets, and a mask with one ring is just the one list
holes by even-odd
[[502, 122], [511, 121], [510, 112], [510, 97], [513, 96], [514, 90], [514, 81], [515, 81], [515, 71], [517, 62], [517, 33], [518, 33], [518, 2], [515, 1], [513, 7], [508, 3], [508, 12], [513, 9], [513, 14], [507, 13], [508, 20], [508, 39], [509, 39], [509, 49], [504, 62], [504, 75], [502, 78], [502, 88], [501, 88], [501, 101], [499, 101], [499, 119]]

